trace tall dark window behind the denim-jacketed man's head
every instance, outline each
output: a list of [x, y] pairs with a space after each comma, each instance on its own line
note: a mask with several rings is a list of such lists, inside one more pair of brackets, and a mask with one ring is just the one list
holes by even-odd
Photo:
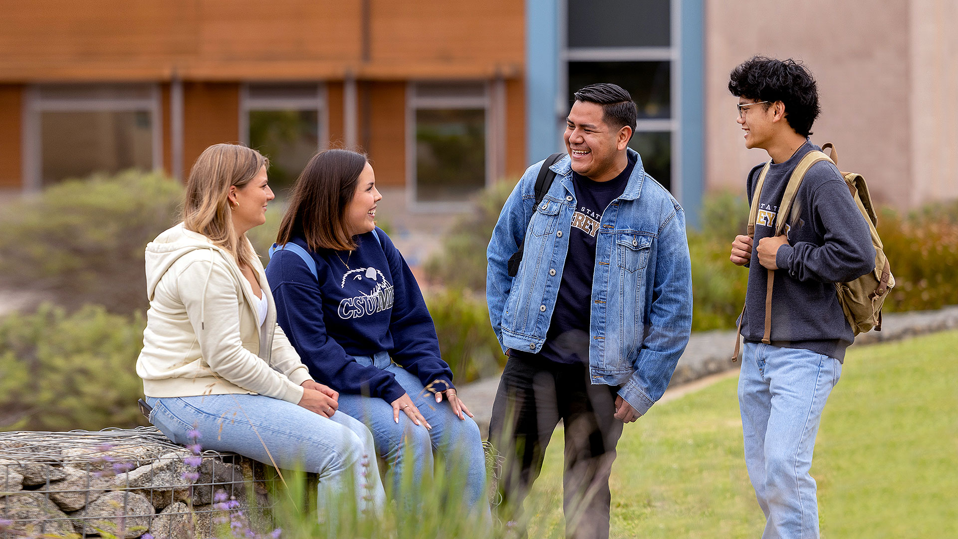
[[639, 152], [650, 176], [673, 185], [676, 138], [677, 47], [673, 46], [673, 1], [567, 0], [565, 48], [569, 103], [587, 84], [625, 88], [639, 108], [628, 146]]

